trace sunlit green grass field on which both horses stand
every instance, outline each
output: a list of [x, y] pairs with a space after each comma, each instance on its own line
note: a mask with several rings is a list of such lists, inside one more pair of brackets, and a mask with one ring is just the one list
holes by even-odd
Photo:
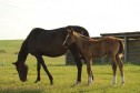
[[94, 82], [87, 85], [87, 69], [82, 69], [82, 82], [72, 86], [77, 78], [76, 65], [66, 65], [64, 56], [47, 58], [44, 61], [53, 75], [54, 85], [50, 85], [49, 79], [41, 69], [41, 81], [33, 83], [37, 78], [36, 59], [28, 56], [28, 81], [22, 83], [12, 65], [17, 61], [22, 40], [0, 41], [0, 93], [140, 93], [140, 65], [124, 64], [126, 84], [121, 86], [119, 70], [117, 72], [117, 85], [111, 87], [112, 70], [110, 64], [94, 64]]

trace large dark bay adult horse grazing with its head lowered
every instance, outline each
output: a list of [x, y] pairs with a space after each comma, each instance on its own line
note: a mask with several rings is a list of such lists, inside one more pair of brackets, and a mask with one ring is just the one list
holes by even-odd
[[71, 51], [77, 63], [78, 68], [77, 82], [81, 82], [82, 63], [80, 60], [80, 53], [77, 50], [76, 44], [74, 43], [71, 44], [68, 49], [63, 48], [62, 45], [68, 34], [67, 29], [69, 28], [72, 28], [78, 33], [89, 37], [88, 31], [84, 28], [78, 25], [68, 25], [54, 30], [44, 30], [36, 28], [29, 33], [29, 35], [21, 45], [17, 62], [13, 63], [17, 68], [19, 78], [22, 82], [27, 81], [28, 68], [26, 65], [26, 60], [28, 54], [31, 53], [37, 59], [38, 76], [36, 83], [40, 81], [40, 68], [42, 65], [43, 70], [49, 76], [50, 83], [53, 84], [53, 78], [48, 71], [48, 68], [42, 59], [42, 55], [56, 58], [63, 55], [64, 53], [67, 53], [68, 50]]

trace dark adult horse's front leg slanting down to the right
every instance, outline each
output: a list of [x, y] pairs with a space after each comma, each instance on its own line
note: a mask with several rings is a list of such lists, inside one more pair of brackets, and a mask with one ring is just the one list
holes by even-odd
[[42, 56], [41, 56], [41, 55], [38, 55], [37, 59], [38, 59], [38, 62], [39, 62], [40, 64], [42, 64], [43, 70], [44, 70], [46, 73], [48, 74], [49, 80], [50, 80], [50, 84], [53, 84], [53, 78], [52, 78], [52, 75], [50, 74], [50, 72], [48, 71], [47, 65], [44, 64], [44, 61], [43, 61]]

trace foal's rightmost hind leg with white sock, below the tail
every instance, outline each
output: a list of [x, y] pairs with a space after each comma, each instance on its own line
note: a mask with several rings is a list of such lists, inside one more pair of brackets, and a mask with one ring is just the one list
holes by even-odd
[[121, 75], [121, 85], [123, 85], [124, 84], [123, 63], [122, 63], [121, 58], [119, 58], [119, 55], [117, 56], [117, 62], [118, 62], [120, 75]]

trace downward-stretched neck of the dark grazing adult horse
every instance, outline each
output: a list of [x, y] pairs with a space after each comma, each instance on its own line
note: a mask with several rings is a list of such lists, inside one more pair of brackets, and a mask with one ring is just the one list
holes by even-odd
[[27, 60], [27, 56], [29, 54], [27, 49], [27, 41], [24, 41], [21, 45], [20, 52], [18, 54], [18, 62], [24, 62]]

